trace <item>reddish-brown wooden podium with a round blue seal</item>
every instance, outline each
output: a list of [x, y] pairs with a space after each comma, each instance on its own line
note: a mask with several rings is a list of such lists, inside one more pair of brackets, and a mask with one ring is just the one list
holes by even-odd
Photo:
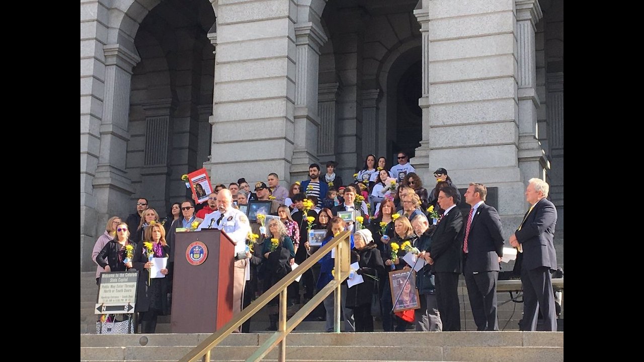
[[172, 333], [213, 333], [231, 321], [234, 248], [216, 229], [176, 233]]

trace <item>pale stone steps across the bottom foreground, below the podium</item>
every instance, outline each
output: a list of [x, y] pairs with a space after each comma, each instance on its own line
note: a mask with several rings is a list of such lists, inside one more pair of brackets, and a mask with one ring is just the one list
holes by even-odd
[[[212, 361], [243, 361], [270, 334], [232, 334]], [[81, 334], [81, 362], [176, 361], [208, 334]], [[275, 361], [277, 348], [264, 361]], [[295, 333], [288, 361], [564, 361], [563, 332]]]

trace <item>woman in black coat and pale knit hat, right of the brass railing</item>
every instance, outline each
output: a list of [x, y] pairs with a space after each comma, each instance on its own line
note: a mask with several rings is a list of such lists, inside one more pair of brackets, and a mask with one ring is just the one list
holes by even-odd
[[363, 283], [350, 287], [346, 292], [346, 307], [354, 310], [355, 332], [374, 332], [374, 318], [371, 315], [371, 302], [376, 294], [376, 286], [383, 278], [384, 263], [376, 249], [371, 231], [362, 229], [354, 234], [354, 249], [351, 263], [357, 262], [355, 271], [363, 276]]

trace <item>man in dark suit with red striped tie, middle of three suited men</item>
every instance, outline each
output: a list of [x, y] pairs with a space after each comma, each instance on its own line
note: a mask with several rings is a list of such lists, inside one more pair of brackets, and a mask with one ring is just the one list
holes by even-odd
[[477, 330], [498, 330], [497, 280], [503, 256], [501, 218], [485, 204], [488, 189], [470, 183], [465, 202], [471, 205], [462, 240], [463, 274]]

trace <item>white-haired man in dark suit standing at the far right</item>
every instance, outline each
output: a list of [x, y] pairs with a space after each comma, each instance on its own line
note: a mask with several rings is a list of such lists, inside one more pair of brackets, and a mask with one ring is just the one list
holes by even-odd
[[557, 267], [554, 252], [554, 225], [557, 211], [546, 198], [550, 187], [540, 178], [531, 178], [526, 187], [526, 201], [531, 207], [524, 220], [510, 236], [510, 244], [523, 252], [521, 283], [524, 291], [524, 316], [520, 330], [536, 330], [538, 312], [544, 328], [557, 330], [551, 270]]

